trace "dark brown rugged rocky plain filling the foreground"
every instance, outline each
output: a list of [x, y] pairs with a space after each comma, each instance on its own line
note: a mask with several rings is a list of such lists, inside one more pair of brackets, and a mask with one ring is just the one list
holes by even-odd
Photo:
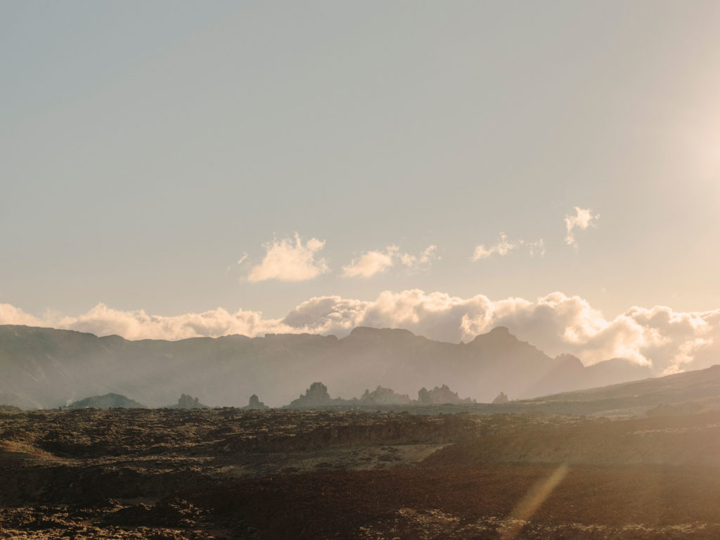
[[0, 411], [0, 538], [720, 537], [720, 413]]

